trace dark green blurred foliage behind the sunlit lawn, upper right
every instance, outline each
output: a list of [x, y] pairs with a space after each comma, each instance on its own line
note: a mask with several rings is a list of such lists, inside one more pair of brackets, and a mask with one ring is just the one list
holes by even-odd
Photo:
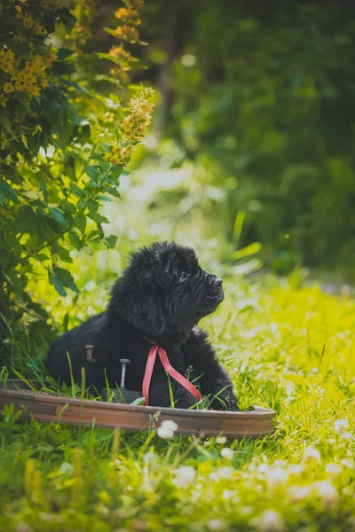
[[155, 0], [146, 35], [152, 64], [169, 75], [166, 135], [180, 160], [202, 164], [225, 191], [213, 217], [230, 237], [245, 210], [243, 244], [262, 242], [274, 270], [304, 263], [353, 278], [354, 4], [179, 0], [176, 8]]

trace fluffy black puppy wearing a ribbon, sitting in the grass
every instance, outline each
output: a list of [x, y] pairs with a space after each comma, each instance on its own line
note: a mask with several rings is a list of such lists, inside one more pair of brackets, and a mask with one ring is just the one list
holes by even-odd
[[[75, 382], [81, 381], [83, 367], [87, 386], [100, 391], [106, 379], [110, 387], [120, 383], [120, 358], [129, 358], [126, 387], [140, 391], [152, 347], [147, 339], [154, 340], [166, 350], [173, 368], [182, 375], [189, 372], [201, 395], [213, 399], [211, 408], [236, 411], [232, 382], [217, 362], [207, 334], [196, 327], [223, 299], [222, 280], [201, 269], [193, 249], [155, 243], [132, 254], [130, 265], [113, 287], [106, 312], [91, 317], [51, 345], [46, 367], [52, 377], [67, 384], [71, 372]], [[93, 346], [95, 362], [88, 360], [87, 345]], [[177, 408], [196, 403], [176, 380], [170, 378], [170, 385]], [[170, 406], [168, 377], [159, 357], [154, 364], [149, 404]]]

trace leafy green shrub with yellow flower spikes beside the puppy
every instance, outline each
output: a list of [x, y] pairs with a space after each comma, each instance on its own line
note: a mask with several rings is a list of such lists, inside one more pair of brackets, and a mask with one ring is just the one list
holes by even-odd
[[[82, 51], [91, 37], [93, 0], [75, 0], [68, 9], [46, 0], [8, 0], [0, 7], [0, 342], [5, 346], [9, 335], [28, 337], [29, 326], [43, 337], [38, 327], [42, 330], [48, 316], [36, 294], [27, 291], [30, 276], [46, 271], [64, 296], [67, 289], [77, 291], [64, 267], [72, 262], [70, 248], [102, 239], [108, 247], [115, 244], [103, 230], [107, 220], [99, 206], [119, 196], [122, 168], [146, 134], [153, 110], [152, 90], [130, 88], [130, 70], [138, 61], [124, 48], [125, 42], [139, 43], [143, 1], [123, 4], [115, 12], [118, 27], [106, 28], [118, 43], [97, 54]], [[110, 65], [101, 83], [88, 74], [98, 61]]]

